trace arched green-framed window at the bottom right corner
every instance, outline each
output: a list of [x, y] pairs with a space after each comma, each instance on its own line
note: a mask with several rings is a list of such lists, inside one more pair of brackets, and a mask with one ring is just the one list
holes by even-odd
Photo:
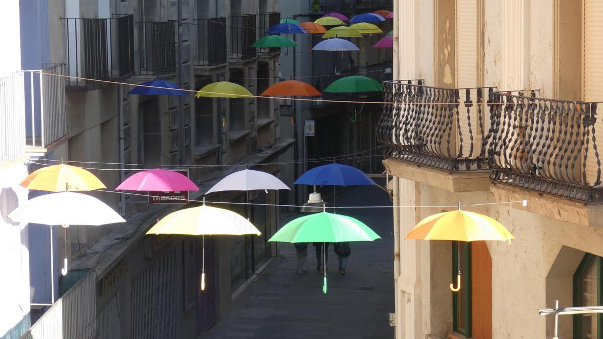
[[[601, 305], [601, 257], [587, 253], [573, 274], [573, 305]], [[602, 314], [588, 313], [573, 316], [573, 338], [603, 338]]]

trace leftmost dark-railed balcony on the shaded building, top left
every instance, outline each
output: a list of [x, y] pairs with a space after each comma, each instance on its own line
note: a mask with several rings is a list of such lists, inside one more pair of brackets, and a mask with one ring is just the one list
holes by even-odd
[[134, 72], [134, 16], [64, 18], [68, 89], [100, 86], [95, 80], [123, 79]]

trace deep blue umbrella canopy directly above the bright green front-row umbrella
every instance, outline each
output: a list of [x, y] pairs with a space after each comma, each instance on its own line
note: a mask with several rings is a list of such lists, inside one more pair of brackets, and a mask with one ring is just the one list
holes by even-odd
[[295, 180], [294, 184], [352, 186], [375, 185], [375, 182], [358, 168], [341, 165], [341, 163], [329, 163], [329, 165], [312, 168]]

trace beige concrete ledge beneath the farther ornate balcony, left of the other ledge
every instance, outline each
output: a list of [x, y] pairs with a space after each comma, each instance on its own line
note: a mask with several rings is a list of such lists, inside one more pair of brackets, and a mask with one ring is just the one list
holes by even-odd
[[449, 192], [488, 191], [492, 183], [491, 170], [449, 173], [396, 159], [385, 159], [383, 164], [390, 176], [425, 183]]

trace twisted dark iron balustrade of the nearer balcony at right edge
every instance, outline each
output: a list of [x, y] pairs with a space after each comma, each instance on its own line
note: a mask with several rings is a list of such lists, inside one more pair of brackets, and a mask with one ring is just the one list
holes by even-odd
[[494, 92], [484, 147], [491, 179], [578, 201], [603, 201], [596, 103]]

